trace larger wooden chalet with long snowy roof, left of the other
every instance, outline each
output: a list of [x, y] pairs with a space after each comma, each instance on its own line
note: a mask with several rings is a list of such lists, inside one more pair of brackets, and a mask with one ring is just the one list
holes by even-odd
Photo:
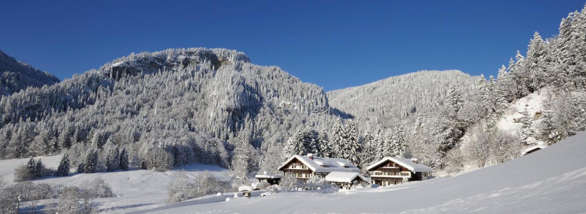
[[278, 170], [291, 172], [301, 180], [308, 180], [314, 175], [325, 177], [330, 172], [360, 172], [360, 169], [343, 158], [314, 157], [295, 155], [285, 161]]

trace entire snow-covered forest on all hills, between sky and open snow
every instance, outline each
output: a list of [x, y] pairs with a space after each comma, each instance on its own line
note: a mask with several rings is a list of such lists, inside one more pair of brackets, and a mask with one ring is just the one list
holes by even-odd
[[[418, 71], [324, 92], [236, 50], [132, 53], [60, 82], [0, 52], [0, 159], [63, 154], [56, 170], [30, 158], [15, 181], [210, 164], [230, 170], [231, 187], [308, 153], [359, 168], [386, 156], [483, 168], [586, 129], [586, 7], [512, 56], [488, 77]], [[183, 195], [204, 184], [178, 181], [168, 200], [230, 189], [199, 178], [214, 188]]]

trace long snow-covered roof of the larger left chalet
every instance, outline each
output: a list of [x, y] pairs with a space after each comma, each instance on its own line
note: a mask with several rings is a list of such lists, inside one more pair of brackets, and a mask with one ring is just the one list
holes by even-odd
[[[342, 172], [360, 172], [360, 169], [357, 168], [355, 165], [350, 163], [344, 158], [328, 158], [328, 157], [315, 157], [312, 160], [307, 156], [299, 156], [295, 155], [285, 161], [280, 167], [279, 170], [283, 170], [283, 168], [292, 160], [297, 158], [297, 160], [301, 161], [304, 165], [306, 165], [311, 171], [314, 172], [335, 172], [335, 171], [342, 171]], [[322, 165], [329, 165], [329, 167], [322, 167]], [[345, 167], [347, 166], [347, 167]]]

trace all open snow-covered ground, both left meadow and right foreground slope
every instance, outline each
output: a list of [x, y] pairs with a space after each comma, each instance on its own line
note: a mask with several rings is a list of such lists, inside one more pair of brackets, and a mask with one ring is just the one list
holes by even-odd
[[[50, 167], [58, 160], [58, 156], [43, 157]], [[0, 175], [12, 179], [13, 168], [25, 161], [0, 161]], [[217, 177], [225, 177], [227, 172], [202, 164], [183, 169], [189, 177], [204, 170]], [[175, 174], [131, 170], [47, 177], [35, 182], [77, 185], [101, 177], [118, 195], [96, 200], [101, 213], [584, 213], [586, 132], [507, 163], [456, 177], [346, 192], [281, 192], [262, 198], [262, 191], [253, 192], [253, 198], [224, 193], [166, 205], [166, 189]]]

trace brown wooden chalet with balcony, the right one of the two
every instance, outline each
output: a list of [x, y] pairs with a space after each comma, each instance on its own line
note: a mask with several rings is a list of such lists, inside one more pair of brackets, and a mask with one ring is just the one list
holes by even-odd
[[423, 181], [430, 176], [431, 170], [427, 165], [417, 163], [415, 158], [384, 157], [382, 160], [366, 168], [370, 172], [373, 184], [391, 185], [405, 181]]

